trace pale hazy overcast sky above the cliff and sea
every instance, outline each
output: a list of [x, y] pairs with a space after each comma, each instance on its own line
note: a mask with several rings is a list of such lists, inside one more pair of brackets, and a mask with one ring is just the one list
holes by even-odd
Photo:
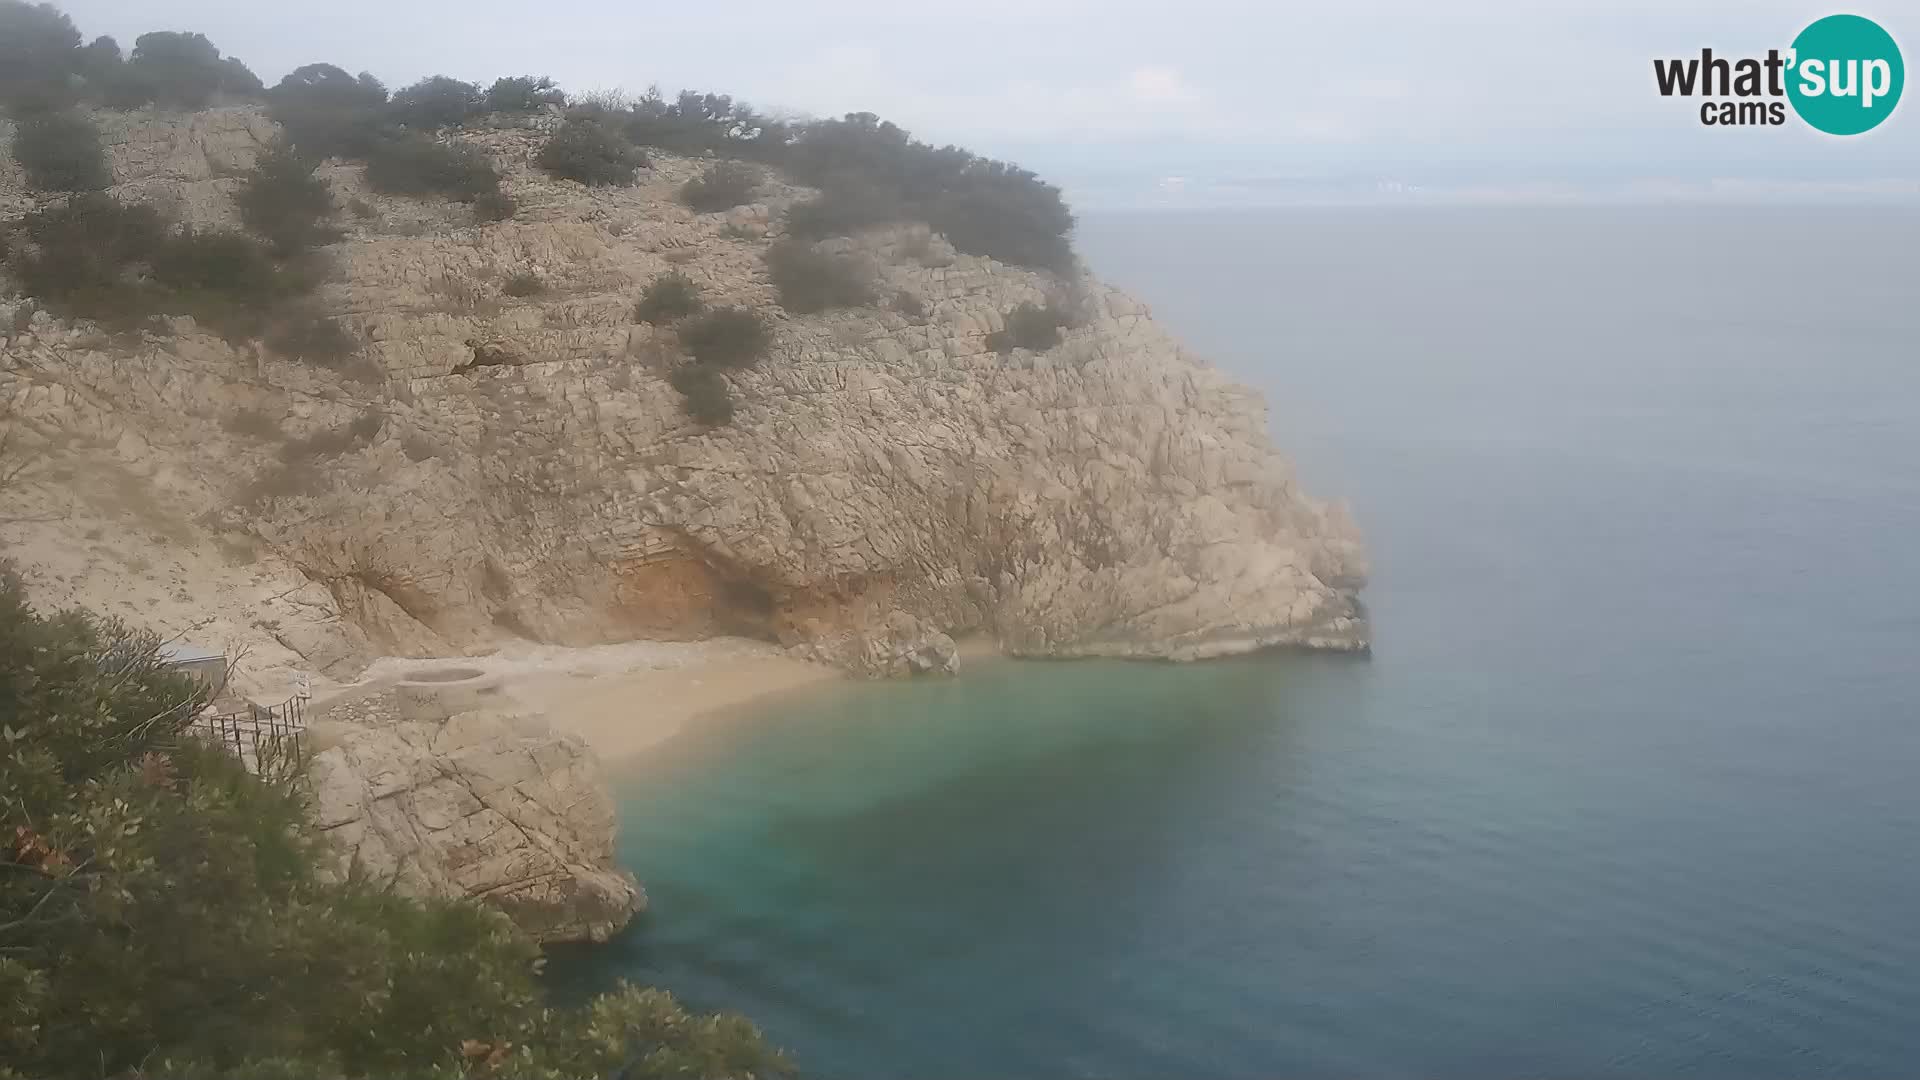
[[[324, 60], [392, 86], [547, 73], [816, 115], [877, 111], [1083, 198], [1471, 188], [1920, 194], [1920, 92], [1826, 138], [1709, 129], [1655, 56], [1786, 48], [1849, 8], [1789, 0], [71, 0], [88, 37], [202, 31], [273, 85]], [[1851, 8], [1920, 61], [1920, 0]], [[966, 17], [960, 17], [960, 13]], [[1181, 183], [1185, 181], [1185, 184]]]

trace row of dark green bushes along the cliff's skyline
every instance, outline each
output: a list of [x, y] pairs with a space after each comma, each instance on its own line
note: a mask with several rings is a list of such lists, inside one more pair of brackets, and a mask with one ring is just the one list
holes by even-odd
[[[238, 60], [223, 58], [204, 35], [142, 35], [125, 61], [111, 38], [86, 48], [79, 42], [79, 31], [58, 10], [0, 0], [0, 106], [15, 115], [83, 100], [117, 108], [148, 102], [200, 108], [217, 98], [261, 94], [259, 79]], [[369, 160], [380, 171], [420, 173], [432, 169], [417, 160], [419, 154], [405, 154], [409, 144], [396, 142], [396, 133], [420, 135], [484, 111], [534, 111], [566, 96], [551, 79], [532, 75], [499, 79], [486, 92], [436, 75], [390, 102], [371, 75], [355, 79], [330, 63], [309, 63], [282, 79], [267, 100], [286, 138], [307, 158]], [[874, 113], [787, 123], [726, 94], [589, 96], [549, 138], [540, 165], [553, 177], [584, 184], [628, 184], [634, 169], [645, 163], [637, 146], [774, 165], [818, 186], [820, 198], [795, 206], [789, 215], [789, 231], [801, 238], [927, 221], [960, 252], [1058, 273], [1073, 269], [1073, 215], [1060, 188], [1006, 161], [920, 142]], [[413, 163], [396, 165], [396, 148]], [[378, 158], [386, 158], [384, 163]], [[726, 209], [749, 198], [743, 175], [716, 167], [689, 184], [685, 198], [701, 209]], [[472, 202], [493, 186], [399, 181], [390, 183], [390, 190], [451, 192]], [[499, 204], [482, 219], [497, 219], [497, 209]]]

